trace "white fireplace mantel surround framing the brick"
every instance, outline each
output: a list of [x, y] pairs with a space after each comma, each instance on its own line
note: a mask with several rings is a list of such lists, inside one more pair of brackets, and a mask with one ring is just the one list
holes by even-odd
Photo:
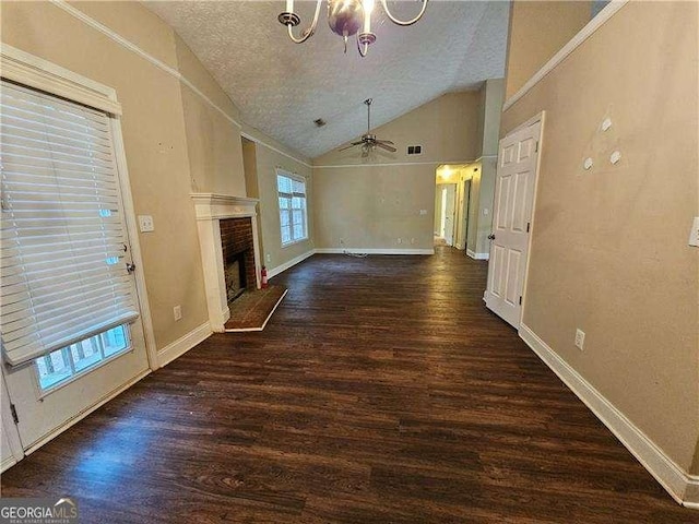
[[224, 324], [230, 318], [226, 297], [223, 250], [221, 246], [221, 221], [249, 216], [252, 222], [252, 242], [254, 247], [256, 287], [260, 287], [260, 250], [258, 239], [257, 211], [258, 199], [234, 196], [220, 193], [191, 193], [199, 230], [201, 262], [206, 287], [209, 320], [213, 331], [223, 332]]

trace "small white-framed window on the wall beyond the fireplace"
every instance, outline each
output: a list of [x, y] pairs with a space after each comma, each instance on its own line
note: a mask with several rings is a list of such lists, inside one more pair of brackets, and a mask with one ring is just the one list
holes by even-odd
[[277, 170], [276, 187], [280, 195], [282, 246], [306, 240], [308, 238], [306, 181]]

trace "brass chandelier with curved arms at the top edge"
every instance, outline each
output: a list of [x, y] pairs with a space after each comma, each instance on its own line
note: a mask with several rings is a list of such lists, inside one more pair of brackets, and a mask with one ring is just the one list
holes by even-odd
[[[288, 37], [296, 44], [301, 44], [316, 33], [320, 5], [323, 0], [318, 0], [316, 13], [310, 27], [304, 29], [299, 37], [294, 36], [294, 27], [300, 24], [301, 19], [294, 12], [294, 0], [286, 0], [286, 11], [279, 15], [279, 21], [286, 25]], [[375, 0], [328, 0], [328, 25], [333, 33], [342, 36], [345, 41], [345, 52], [347, 52], [347, 38], [357, 35], [357, 49], [363, 57], [367, 56], [369, 46], [376, 41], [376, 35], [371, 33], [371, 12]], [[417, 16], [412, 20], [398, 20], [391, 14], [386, 0], [381, 0], [383, 11], [391, 22], [398, 25], [413, 25], [417, 22], [427, 8], [427, 0], [422, 0], [423, 7]], [[359, 32], [362, 29], [362, 32]]]

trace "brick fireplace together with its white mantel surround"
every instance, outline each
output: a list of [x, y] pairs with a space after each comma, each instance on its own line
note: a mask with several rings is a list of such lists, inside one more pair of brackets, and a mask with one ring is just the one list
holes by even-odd
[[258, 200], [215, 193], [193, 193], [191, 198], [199, 230], [209, 321], [212, 331], [223, 332], [230, 318], [228, 302], [241, 293], [241, 287], [260, 287]]

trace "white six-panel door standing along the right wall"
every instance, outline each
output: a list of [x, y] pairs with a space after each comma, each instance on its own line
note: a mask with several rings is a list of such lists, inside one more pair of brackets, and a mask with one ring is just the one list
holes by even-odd
[[486, 306], [519, 327], [541, 120], [500, 140], [490, 235]]

